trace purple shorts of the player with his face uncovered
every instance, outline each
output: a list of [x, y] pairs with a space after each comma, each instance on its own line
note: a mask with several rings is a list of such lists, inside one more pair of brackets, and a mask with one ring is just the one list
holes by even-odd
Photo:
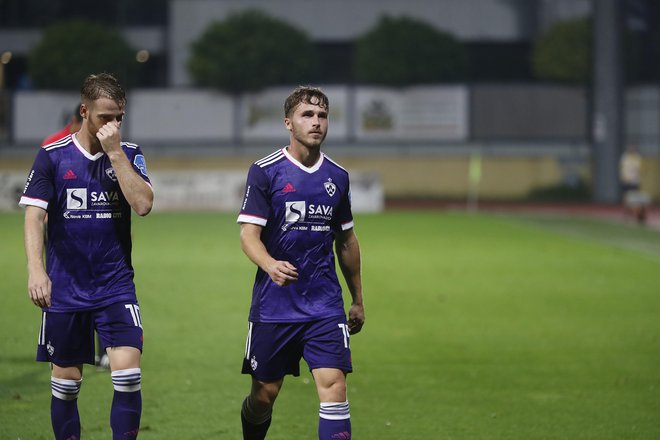
[[287, 374], [300, 376], [300, 358], [310, 370], [337, 368], [353, 371], [345, 316], [312, 322], [250, 322], [243, 374], [275, 382]]

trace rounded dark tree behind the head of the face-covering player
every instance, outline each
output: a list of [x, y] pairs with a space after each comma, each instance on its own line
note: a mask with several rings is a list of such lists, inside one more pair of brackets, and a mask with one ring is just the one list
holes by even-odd
[[135, 83], [135, 51], [113, 30], [84, 20], [48, 27], [30, 52], [28, 74], [37, 88], [80, 88], [91, 73], [109, 72], [125, 87]]

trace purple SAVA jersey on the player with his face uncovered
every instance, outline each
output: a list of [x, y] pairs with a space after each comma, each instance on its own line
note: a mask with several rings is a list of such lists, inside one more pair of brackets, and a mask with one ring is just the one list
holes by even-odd
[[325, 154], [311, 168], [286, 149], [248, 172], [239, 223], [263, 226], [261, 240], [276, 260], [298, 269], [281, 287], [257, 270], [251, 322], [306, 322], [345, 315], [335, 271], [335, 233], [353, 227], [348, 172]]

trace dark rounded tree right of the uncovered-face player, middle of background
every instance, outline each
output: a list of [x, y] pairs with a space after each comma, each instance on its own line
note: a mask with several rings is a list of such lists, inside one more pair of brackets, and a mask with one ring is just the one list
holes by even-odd
[[450, 34], [410, 18], [384, 16], [358, 38], [358, 81], [387, 86], [461, 81], [467, 78], [465, 48]]

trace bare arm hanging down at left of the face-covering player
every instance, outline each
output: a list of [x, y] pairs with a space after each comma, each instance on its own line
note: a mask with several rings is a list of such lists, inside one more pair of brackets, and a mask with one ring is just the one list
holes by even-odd
[[25, 210], [25, 253], [28, 269], [28, 295], [37, 307], [50, 307], [51, 281], [44, 268], [44, 229], [46, 211], [28, 206]]

